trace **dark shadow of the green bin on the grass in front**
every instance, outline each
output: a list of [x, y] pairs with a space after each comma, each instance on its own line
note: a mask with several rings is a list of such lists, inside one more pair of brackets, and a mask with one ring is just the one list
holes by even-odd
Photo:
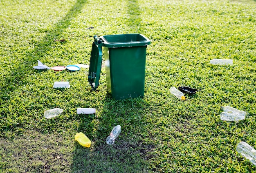
[[[92, 145], [86, 148], [76, 142], [72, 172], [149, 172], [147, 160], [152, 158], [150, 151], [155, 146], [143, 142], [139, 133], [139, 126], [146, 119], [143, 114], [144, 101], [141, 98], [113, 100], [107, 95], [103, 105], [94, 120], [82, 120], [79, 126], [78, 132], [85, 133], [92, 140]], [[93, 122], [95, 119], [97, 123]], [[142, 122], [138, 119], [142, 119]], [[106, 138], [118, 124], [121, 125], [121, 133], [115, 144], [108, 145]], [[93, 129], [97, 129], [95, 133]]]

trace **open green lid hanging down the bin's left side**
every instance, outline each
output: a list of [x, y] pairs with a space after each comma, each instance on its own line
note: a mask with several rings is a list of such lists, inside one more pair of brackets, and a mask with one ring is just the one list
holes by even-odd
[[99, 40], [97, 35], [94, 35], [93, 38], [94, 42], [92, 43], [88, 81], [92, 90], [95, 91], [97, 87], [99, 87], [99, 78], [101, 74], [102, 45], [101, 40]]

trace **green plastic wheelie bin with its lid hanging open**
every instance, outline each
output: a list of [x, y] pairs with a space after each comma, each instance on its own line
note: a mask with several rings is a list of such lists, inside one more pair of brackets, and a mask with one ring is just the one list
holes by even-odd
[[99, 86], [102, 47], [105, 57], [107, 89], [115, 100], [143, 98], [146, 47], [150, 40], [142, 34], [94, 36], [88, 81], [92, 90]]

